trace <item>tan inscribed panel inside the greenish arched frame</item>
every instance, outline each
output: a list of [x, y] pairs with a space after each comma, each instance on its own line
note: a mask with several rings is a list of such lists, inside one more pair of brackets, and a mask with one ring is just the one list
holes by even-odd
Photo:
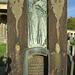
[[44, 75], [44, 57], [29, 56], [28, 75]]

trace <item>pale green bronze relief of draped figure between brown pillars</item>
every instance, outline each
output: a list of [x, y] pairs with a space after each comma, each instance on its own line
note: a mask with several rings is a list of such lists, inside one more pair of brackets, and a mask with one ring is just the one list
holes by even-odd
[[47, 47], [47, 0], [28, 0], [28, 47]]

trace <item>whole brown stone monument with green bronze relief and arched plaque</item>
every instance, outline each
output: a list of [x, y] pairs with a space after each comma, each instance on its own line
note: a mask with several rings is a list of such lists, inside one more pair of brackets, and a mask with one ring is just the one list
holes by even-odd
[[9, 0], [9, 75], [67, 75], [67, 0]]

